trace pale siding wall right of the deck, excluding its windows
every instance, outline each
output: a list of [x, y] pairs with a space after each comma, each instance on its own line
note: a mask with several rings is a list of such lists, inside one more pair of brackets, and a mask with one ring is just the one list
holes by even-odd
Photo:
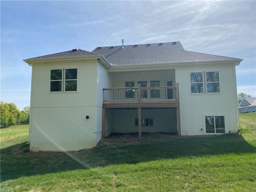
[[[190, 94], [190, 72], [219, 71], [219, 94]], [[226, 133], [237, 132], [237, 102], [233, 64], [177, 66], [182, 135], [206, 134], [204, 116], [224, 116]], [[201, 130], [203, 129], [203, 130]]]

